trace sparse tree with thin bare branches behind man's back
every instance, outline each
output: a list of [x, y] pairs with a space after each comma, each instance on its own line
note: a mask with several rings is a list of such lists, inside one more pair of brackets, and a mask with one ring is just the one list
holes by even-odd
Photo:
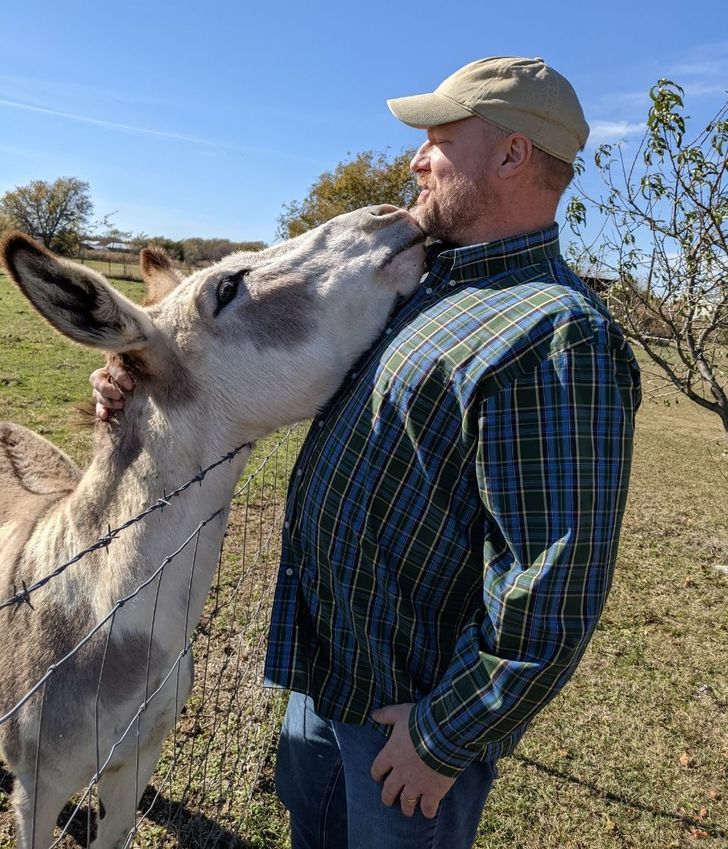
[[577, 183], [567, 219], [580, 235], [588, 209], [601, 216], [599, 248], [581, 237], [580, 270], [612, 279], [606, 299], [661, 389], [714, 413], [728, 433], [728, 102], [688, 139], [683, 94], [670, 80], [652, 87], [636, 153], [602, 145], [604, 193]]

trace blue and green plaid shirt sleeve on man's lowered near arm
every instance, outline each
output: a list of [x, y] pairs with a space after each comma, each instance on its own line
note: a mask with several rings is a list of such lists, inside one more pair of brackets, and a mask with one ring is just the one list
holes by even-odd
[[479, 402], [482, 607], [410, 715], [438, 772], [522, 731], [573, 673], [611, 584], [638, 403], [626, 360], [594, 343]]

